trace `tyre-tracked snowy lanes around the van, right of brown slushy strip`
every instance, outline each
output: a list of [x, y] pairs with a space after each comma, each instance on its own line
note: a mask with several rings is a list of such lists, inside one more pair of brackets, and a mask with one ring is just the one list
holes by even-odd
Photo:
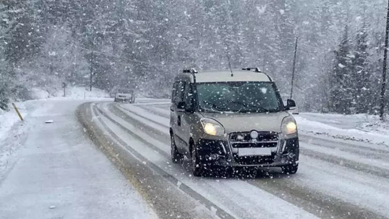
[[198, 201], [199, 208], [219, 217], [389, 218], [389, 148], [305, 134], [296, 175], [275, 169], [260, 175], [196, 178], [188, 161], [170, 162], [169, 107], [164, 101], [102, 102], [84, 110], [107, 141], [161, 175], [161, 186], [179, 189], [182, 199]]

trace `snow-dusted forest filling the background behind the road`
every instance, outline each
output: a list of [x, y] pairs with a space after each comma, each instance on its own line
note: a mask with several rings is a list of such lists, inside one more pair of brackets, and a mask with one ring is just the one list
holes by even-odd
[[34, 87], [89, 86], [90, 74], [107, 92], [166, 98], [182, 69], [226, 69], [228, 55], [286, 98], [298, 36], [299, 109], [375, 114], [386, 10], [384, 0], [1, 0], [0, 107]]

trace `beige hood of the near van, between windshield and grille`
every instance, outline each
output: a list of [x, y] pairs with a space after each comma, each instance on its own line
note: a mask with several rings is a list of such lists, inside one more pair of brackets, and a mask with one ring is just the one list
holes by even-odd
[[256, 130], [282, 132], [281, 123], [289, 113], [202, 113], [203, 117], [212, 118], [220, 122], [227, 134], [233, 132], [249, 132]]

